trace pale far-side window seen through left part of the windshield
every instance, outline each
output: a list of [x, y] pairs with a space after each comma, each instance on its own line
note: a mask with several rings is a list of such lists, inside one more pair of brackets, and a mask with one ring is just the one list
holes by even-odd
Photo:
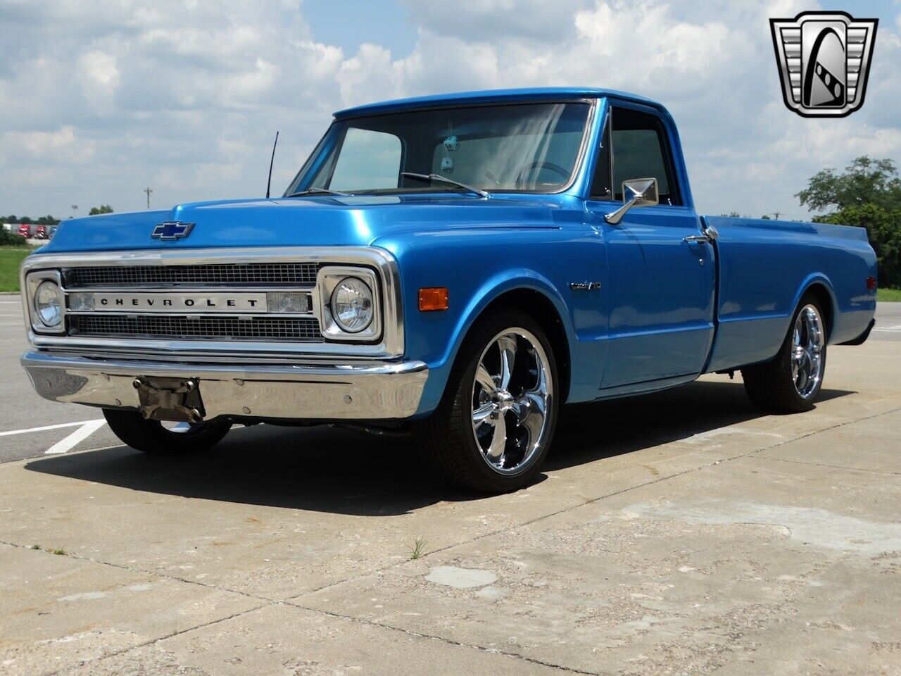
[[393, 133], [350, 127], [329, 182], [332, 190], [397, 187], [402, 148]]

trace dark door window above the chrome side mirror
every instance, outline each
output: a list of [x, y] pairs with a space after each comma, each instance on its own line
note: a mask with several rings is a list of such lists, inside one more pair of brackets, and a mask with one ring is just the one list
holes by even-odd
[[660, 204], [681, 205], [672, 155], [663, 123], [657, 115], [627, 108], [613, 112], [614, 196], [623, 199], [623, 181], [657, 178]]

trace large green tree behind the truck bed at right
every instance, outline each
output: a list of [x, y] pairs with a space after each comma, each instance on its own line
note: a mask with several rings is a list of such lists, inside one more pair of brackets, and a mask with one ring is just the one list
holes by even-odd
[[842, 173], [823, 169], [797, 193], [802, 205], [834, 211], [816, 223], [859, 225], [876, 251], [880, 287], [901, 287], [901, 178], [892, 160], [859, 157]]

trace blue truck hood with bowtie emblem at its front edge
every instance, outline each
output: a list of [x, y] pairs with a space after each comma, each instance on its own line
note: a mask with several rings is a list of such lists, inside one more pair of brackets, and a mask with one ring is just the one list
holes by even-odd
[[[569, 208], [567, 208], [569, 207]], [[221, 200], [170, 211], [88, 216], [64, 221], [41, 253], [198, 249], [242, 246], [366, 246], [384, 236], [472, 228], [557, 227], [581, 210], [566, 195], [313, 196]], [[193, 223], [183, 239], [150, 233], [164, 221]]]

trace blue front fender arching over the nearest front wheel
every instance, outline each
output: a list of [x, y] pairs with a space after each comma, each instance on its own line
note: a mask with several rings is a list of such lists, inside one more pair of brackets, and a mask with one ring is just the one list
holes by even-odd
[[[498, 228], [453, 236], [419, 233], [377, 245], [398, 261], [405, 358], [429, 367], [417, 415], [426, 416], [438, 405], [460, 345], [478, 316], [498, 297], [517, 289], [542, 294], [560, 319], [569, 343], [570, 370], [581, 379], [569, 379], [569, 400], [574, 395], [575, 400], [596, 397], [605, 363], [599, 353], [605, 341], [596, 336], [605, 332], [606, 315], [597, 297], [584, 292], [574, 297], [569, 290], [572, 279], [598, 279], [605, 258], [596, 239], [587, 240], [575, 229]], [[418, 291], [429, 287], [448, 288], [447, 310], [419, 311]]]

